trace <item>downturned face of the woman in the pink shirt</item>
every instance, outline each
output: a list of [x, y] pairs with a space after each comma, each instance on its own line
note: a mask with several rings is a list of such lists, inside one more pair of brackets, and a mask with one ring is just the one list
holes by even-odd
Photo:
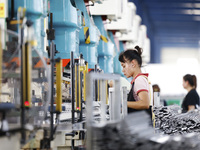
[[121, 62], [121, 66], [122, 66], [122, 72], [127, 78], [133, 76], [134, 68], [131, 62], [125, 62], [125, 63]]

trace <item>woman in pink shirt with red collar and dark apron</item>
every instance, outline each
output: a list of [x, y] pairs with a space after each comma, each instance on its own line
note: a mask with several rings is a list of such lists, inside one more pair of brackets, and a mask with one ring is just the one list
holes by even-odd
[[[128, 94], [128, 113], [147, 110], [151, 114], [153, 99], [152, 86], [148, 81], [148, 74], [141, 72], [142, 49], [136, 46], [132, 50], [126, 50], [119, 55], [122, 72], [127, 78], [133, 77], [132, 88]], [[151, 105], [151, 106], [150, 106]]]

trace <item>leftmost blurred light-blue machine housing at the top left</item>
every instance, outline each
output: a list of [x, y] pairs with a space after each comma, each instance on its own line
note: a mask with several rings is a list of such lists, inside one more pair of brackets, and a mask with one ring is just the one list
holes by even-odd
[[[37, 6], [37, 7], [35, 7]], [[37, 41], [36, 49], [41, 53], [42, 56], [47, 58], [46, 45], [47, 45], [47, 36], [46, 29], [48, 27], [47, 13], [48, 0], [38, 0], [38, 1], [29, 1], [29, 0], [8, 0], [9, 7], [9, 17], [7, 19], [8, 29], [16, 30], [14, 27], [17, 24], [17, 11], [19, 7], [26, 8], [26, 17], [33, 24], [34, 32], [38, 33], [34, 35], [34, 39]], [[17, 31], [17, 30], [16, 30]], [[19, 32], [19, 31], [18, 31]]]

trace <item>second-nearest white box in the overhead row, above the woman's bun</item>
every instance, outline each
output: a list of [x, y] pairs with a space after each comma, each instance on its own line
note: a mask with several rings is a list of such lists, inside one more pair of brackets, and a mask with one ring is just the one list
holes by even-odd
[[132, 2], [124, 1], [124, 12], [122, 14], [122, 18], [117, 21], [112, 21], [110, 24], [107, 24], [108, 30], [117, 30], [123, 33], [127, 33], [131, 31], [131, 27], [133, 26], [133, 17], [136, 11], [136, 6]]

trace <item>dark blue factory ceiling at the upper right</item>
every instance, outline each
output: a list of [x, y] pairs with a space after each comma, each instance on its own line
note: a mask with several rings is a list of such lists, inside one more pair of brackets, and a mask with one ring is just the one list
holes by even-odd
[[[142, 24], [147, 25], [153, 51], [162, 47], [199, 48], [200, 0], [129, 1], [136, 4]], [[159, 61], [152, 57], [152, 62]]]

